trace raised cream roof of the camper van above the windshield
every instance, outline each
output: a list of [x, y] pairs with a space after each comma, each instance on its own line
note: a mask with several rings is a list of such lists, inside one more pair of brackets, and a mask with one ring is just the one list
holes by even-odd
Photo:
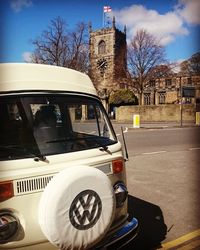
[[32, 63], [0, 64], [0, 93], [38, 90], [97, 95], [90, 78], [72, 69]]

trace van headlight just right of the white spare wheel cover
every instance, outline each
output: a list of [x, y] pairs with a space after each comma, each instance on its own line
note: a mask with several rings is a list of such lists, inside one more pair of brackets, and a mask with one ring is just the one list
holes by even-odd
[[128, 196], [128, 191], [123, 182], [118, 182], [114, 185], [114, 192], [116, 197], [116, 207], [123, 206]]

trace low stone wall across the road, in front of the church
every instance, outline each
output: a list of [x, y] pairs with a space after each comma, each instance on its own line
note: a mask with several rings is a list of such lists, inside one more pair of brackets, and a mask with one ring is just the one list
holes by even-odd
[[[140, 115], [140, 122], [179, 122], [181, 106], [178, 104], [123, 106], [116, 109], [116, 121], [132, 122], [133, 115]], [[182, 121], [195, 123], [195, 105], [182, 105]]]

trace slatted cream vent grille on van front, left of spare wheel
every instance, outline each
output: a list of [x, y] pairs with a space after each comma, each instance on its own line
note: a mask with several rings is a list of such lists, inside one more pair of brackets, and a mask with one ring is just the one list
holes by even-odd
[[14, 194], [22, 195], [44, 190], [54, 175], [26, 178], [14, 181]]

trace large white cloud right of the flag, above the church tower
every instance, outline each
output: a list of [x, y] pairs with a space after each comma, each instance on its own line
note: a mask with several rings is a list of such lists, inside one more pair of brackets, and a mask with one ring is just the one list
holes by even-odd
[[114, 15], [117, 22], [127, 26], [128, 39], [141, 28], [157, 37], [162, 45], [169, 44], [177, 35], [189, 34], [188, 29], [184, 27], [182, 17], [176, 11], [159, 14], [142, 5], [132, 5], [115, 11]]

